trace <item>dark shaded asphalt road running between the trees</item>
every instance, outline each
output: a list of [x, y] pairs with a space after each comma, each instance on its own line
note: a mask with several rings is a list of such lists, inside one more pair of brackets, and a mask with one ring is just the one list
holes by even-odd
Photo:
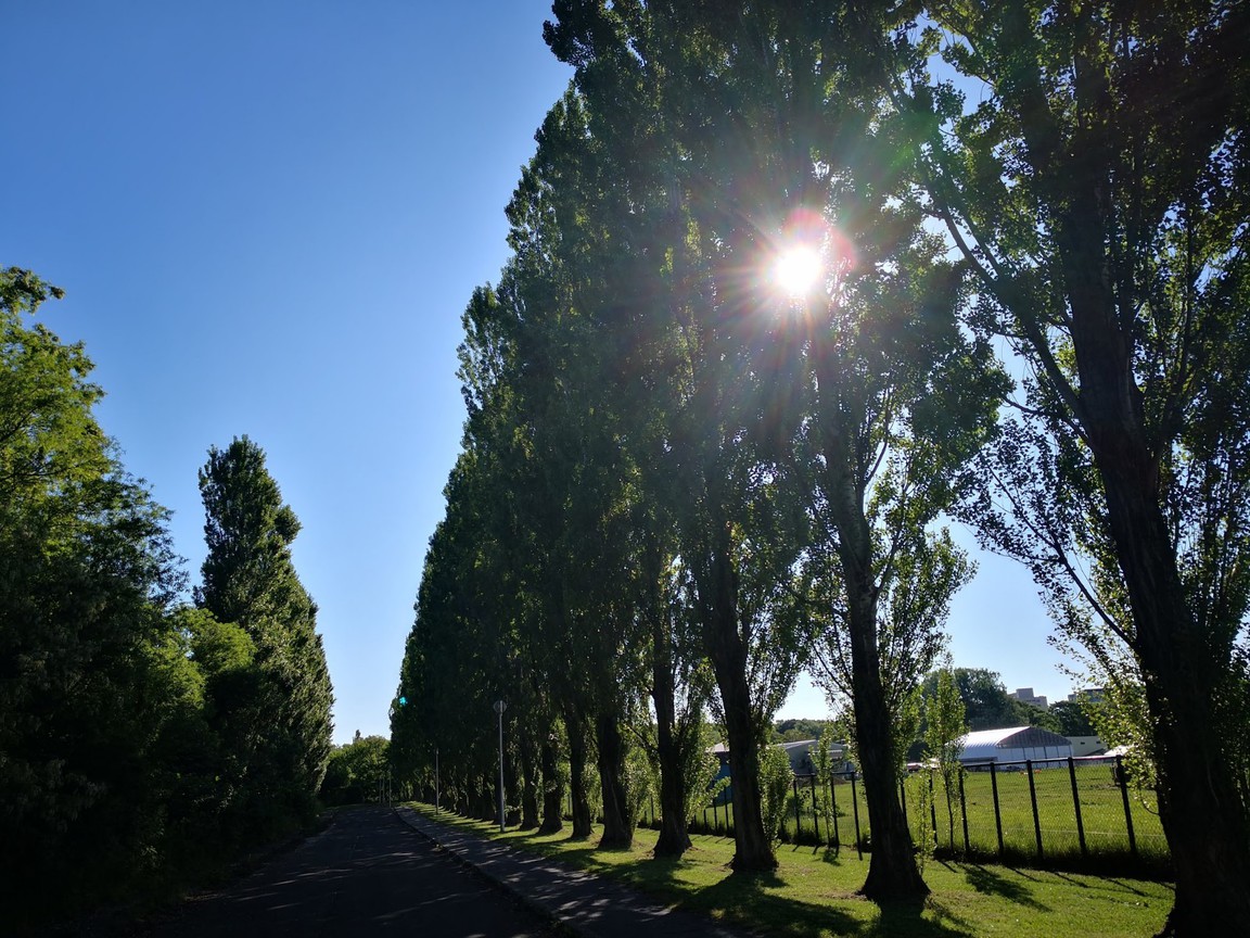
[[156, 938], [555, 934], [381, 808], [340, 812], [326, 830], [294, 850], [149, 927], [144, 934]]

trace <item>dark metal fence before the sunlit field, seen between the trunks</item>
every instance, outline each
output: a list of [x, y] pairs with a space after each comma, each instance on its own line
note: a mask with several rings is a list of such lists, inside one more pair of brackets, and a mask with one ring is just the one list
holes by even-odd
[[[899, 794], [912, 838], [931, 838], [939, 857], [1156, 875], [1170, 870], [1155, 793], [1130, 785], [1118, 758], [968, 764], [949, 792], [941, 773], [926, 767], [909, 772]], [[726, 800], [698, 812], [691, 832], [731, 835]], [[654, 803], [644, 805], [641, 820], [658, 823]], [[780, 838], [862, 855], [872, 832], [859, 774], [796, 775]]]

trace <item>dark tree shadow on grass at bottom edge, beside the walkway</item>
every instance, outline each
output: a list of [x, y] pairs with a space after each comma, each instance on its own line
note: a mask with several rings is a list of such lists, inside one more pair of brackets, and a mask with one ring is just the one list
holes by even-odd
[[[785, 880], [775, 873], [735, 873], [684, 898], [678, 908], [724, 917], [746, 927], [764, 925], [769, 934], [794, 938], [822, 930], [846, 938], [968, 938], [971, 934], [968, 923], [931, 902], [880, 903], [874, 919], [870, 908], [874, 903], [868, 899], [846, 897], [838, 905], [804, 902], [778, 894], [775, 890], [782, 885]], [[861, 914], [856, 914], [855, 903], [864, 903]]]

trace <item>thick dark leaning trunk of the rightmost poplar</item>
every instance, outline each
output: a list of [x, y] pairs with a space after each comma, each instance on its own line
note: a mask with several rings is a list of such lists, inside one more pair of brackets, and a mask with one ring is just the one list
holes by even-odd
[[1195, 620], [1161, 502], [1159, 456], [1105, 273], [1105, 221], [1078, 179], [1058, 243], [1080, 375], [1076, 416], [1102, 480], [1152, 720], [1159, 818], [1176, 870], [1165, 933], [1250, 935], [1250, 817], [1216, 712], [1231, 648]]

